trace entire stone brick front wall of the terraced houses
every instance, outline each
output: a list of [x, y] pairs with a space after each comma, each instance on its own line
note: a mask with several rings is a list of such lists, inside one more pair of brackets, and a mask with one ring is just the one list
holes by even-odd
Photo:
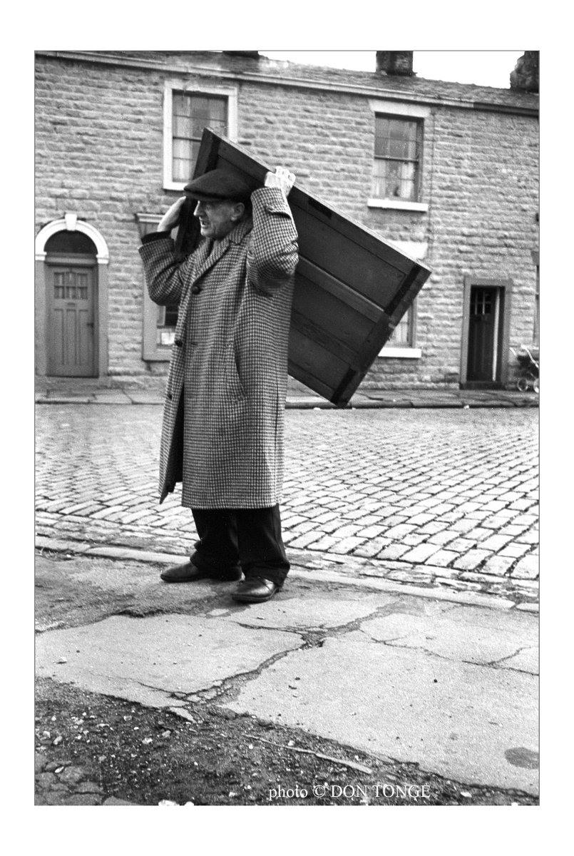
[[[104, 236], [114, 377], [166, 368], [142, 360], [144, 286], [134, 215], [161, 213], [179, 195], [163, 190], [163, 81], [174, 76], [167, 68], [37, 56], [37, 228], [71, 211]], [[189, 77], [230, 84], [215, 75]], [[312, 193], [382, 237], [428, 243], [433, 274], [417, 301], [423, 355], [377, 359], [366, 386], [458, 383], [465, 276], [511, 278], [511, 345], [532, 341], [535, 118], [433, 105], [423, 143], [429, 211], [370, 209], [374, 122], [366, 96], [275, 82], [234, 85], [240, 145], [271, 166], [288, 164]]]

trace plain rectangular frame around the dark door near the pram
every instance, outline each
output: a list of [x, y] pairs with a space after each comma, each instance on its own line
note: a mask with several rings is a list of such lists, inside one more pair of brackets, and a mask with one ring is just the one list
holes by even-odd
[[[496, 353], [496, 369], [493, 381], [469, 382], [468, 373], [468, 350], [469, 350], [469, 327], [470, 327], [470, 292], [473, 286], [484, 288], [497, 288], [497, 303], [499, 306], [498, 335], [494, 342]], [[460, 346], [460, 386], [465, 387], [467, 383], [482, 387], [504, 387], [508, 381], [508, 354], [510, 348], [510, 318], [512, 306], [512, 279], [491, 279], [483, 276], [465, 276], [463, 294], [463, 329]]]

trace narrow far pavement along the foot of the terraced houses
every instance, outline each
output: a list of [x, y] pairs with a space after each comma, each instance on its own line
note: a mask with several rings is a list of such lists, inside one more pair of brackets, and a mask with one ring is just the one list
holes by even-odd
[[[163, 404], [165, 378], [121, 383], [74, 377], [38, 377], [38, 404]], [[347, 407], [538, 407], [539, 396], [513, 389], [361, 389]], [[291, 382], [287, 408], [333, 408], [302, 384]]]

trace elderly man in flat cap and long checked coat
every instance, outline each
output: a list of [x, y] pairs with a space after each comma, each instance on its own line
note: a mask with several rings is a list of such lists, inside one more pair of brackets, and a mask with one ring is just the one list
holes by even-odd
[[[160, 454], [160, 502], [182, 482], [199, 540], [166, 582], [240, 580], [235, 600], [281, 589], [283, 422], [297, 231], [295, 176], [267, 173], [251, 193], [225, 169], [185, 188], [139, 253], [151, 300], [179, 304]], [[204, 239], [184, 261], [170, 236], [186, 199]], [[245, 579], [242, 578], [242, 574]]]

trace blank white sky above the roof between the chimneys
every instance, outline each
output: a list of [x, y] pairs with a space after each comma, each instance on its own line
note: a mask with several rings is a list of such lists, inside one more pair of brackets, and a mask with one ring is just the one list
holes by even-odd
[[[375, 71], [376, 51], [261, 51], [273, 59], [306, 65]], [[429, 80], [476, 83], [508, 89], [510, 73], [524, 51], [414, 51], [413, 71]]]

